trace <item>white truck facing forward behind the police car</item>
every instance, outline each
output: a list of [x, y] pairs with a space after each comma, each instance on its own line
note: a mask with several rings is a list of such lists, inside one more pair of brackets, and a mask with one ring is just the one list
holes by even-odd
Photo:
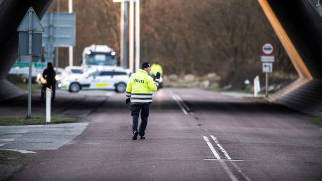
[[115, 51], [107, 45], [91, 45], [84, 48], [82, 66], [86, 69], [117, 66]]

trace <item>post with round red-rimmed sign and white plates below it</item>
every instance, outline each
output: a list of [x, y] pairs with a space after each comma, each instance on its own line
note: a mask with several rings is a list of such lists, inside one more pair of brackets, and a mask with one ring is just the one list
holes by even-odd
[[268, 72], [273, 70], [274, 62], [274, 46], [272, 43], [266, 42], [262, 45], [262, 53], [264, 56], [261, 56], [261, 61], [263, 62], [263, 72], [265, 72], [265, 97], [268, 97]]

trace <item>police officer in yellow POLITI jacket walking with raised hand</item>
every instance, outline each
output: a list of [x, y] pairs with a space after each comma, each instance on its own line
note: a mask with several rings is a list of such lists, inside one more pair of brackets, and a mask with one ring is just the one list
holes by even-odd
[[[143, 62], [141, 69], [138, 72], [133, 73], [126, 86], [126, 101], [125, 103], [131, 105], [132, 116], [132, 131], [133, 140], [137, 139], [137, 135], [140, 135], [140, 139], [145, 139], [145, 128], [147, 125], [147, 117], [149, 116], [150, 104], [152, 103], [151, 91], [156, 91], [159, 86], [160, 73], [157, 72], [155, 80], [148, 75], [151, 67], [148, 62]], [[139, 122], [139, 113], [141, 110], [141, 123], [139, 130], [137, 129]]]

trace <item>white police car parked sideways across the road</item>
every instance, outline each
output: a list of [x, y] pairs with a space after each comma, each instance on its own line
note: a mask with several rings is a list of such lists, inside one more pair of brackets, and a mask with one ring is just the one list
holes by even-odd
[[89, 89], [114, 90], [123, 93], [130, 76], [129, 69], [98, 68], [88, 70], [81, 75], [66, 77], [61, 80], [58, 87], [70, 93]]

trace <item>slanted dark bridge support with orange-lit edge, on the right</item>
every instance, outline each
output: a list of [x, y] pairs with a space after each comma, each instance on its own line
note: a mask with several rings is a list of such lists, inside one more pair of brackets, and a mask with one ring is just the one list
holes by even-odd
[[316, 1], [258, 2], [299, 74], [269, 101], [322, 116], [322, 17]]

